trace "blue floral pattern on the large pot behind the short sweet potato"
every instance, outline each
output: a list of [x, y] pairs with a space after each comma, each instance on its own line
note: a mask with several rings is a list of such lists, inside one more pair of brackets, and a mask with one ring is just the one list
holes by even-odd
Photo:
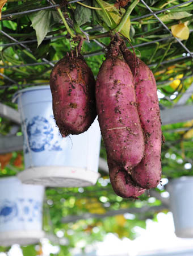
[[33, 152], [48, 151], [61, 151], [62, 148], [58, 142], [58, 133], [56, 127], [53, 126], [53, 115], [49, 120], [45, 117], [36, 115], [29, 121], [26, 119], [25, 125], [27, 128], [28, 144], [25, 143], [25, 152], [28, 153], [28, 147]]

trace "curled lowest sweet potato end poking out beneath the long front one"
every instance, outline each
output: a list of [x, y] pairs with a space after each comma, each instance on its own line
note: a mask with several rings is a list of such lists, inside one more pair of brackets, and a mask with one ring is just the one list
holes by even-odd
[[110, 164], [109, 162], [108, 166], [111, 185], [118, 196], [138, 199], [138, 197], [145, 192], [146, 189], [137, 186], [132, 181], [131, 175], [123, 168]]

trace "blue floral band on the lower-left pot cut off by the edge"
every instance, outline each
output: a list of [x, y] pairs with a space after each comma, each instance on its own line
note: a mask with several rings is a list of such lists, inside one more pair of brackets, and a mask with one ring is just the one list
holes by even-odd
[[0, 224], [11, 221], [33, 222], [41, 219], [41, 202], [18, 198], [15, 201], [0, 201]]

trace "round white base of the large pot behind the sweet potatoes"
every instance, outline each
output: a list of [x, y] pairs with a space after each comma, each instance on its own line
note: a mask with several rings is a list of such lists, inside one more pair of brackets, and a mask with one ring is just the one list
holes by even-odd
[[28, 168], [17, 176], [25, 184], [67, 188], [95, 185], [100, 174], [77, 167], [41, 166]]

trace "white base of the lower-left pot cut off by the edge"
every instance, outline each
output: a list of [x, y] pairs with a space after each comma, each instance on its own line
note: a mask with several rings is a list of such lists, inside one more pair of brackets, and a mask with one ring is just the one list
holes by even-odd
[[38, 243], [44, 237], [43, 231], [35, 230], [15, 230], [0, 233], [0, 244], [2, 246], [11, 246], [14, 243], [19, 245], [31, 245]]

